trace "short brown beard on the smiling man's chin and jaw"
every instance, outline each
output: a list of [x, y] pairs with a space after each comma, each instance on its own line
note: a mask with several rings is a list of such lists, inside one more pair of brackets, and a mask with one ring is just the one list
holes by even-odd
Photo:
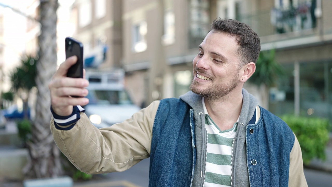
[[210, 85], [208, 88], [202, 89], [200, 88], [200, 83], [197, 81], [194, 81], [194, 78], [191, 82], [190, 85], [190, 90], [194, 92], [195, 94], [198, 94], [204, 98], [207, 98], [209, 100], [216, 100], [220, 99], [226, 95], [228, 95], [231, 91], [233, 91], [237, 87], [237, 74], [235, 74], [231, 80], [228, 82], [224, 81], [221, 84], [218, 85], [213, 85], [212, 80], [212, 85]]

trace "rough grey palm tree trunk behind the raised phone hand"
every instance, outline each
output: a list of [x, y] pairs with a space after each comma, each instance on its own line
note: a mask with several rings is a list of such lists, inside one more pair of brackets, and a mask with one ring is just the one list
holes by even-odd
[[29, 177], [44, 178], [62, 174], [60, 150], [54, 143], [49, 128], [51, 101], [48, 83], [56, 71], [57, 8], [57, 0], [40, 0], [41, 34], [38, 37], [36, 118], [32, 125], [32, 141], [28, 142], [30, 158], [23, 170]]

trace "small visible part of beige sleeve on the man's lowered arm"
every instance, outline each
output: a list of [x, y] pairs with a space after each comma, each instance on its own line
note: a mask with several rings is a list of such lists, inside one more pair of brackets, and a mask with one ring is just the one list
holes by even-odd
[[[295, 134], [294, 134], [295, 136]], [[303, 172], [303, 160], [300, 144], [295, 136], [295, 142], [290, 151], [290, 173], [288, 186], [290, 187], [308, 187]]]

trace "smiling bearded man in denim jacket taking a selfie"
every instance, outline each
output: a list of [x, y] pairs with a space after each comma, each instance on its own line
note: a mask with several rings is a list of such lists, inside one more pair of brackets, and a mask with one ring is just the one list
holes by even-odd
[[124, 171], [150, 157], [149, 186], [307, 186], [301, 149], [288, 125], [257, 106], [243, 84], [255, 72], [260, 39], [249, 26], [216, 19], [193, 60], [192, 92], [153, 101], [123, 123], [97, 129], [84, 114], [88, 82], [49, 84], [51, 130], [81, 171]]

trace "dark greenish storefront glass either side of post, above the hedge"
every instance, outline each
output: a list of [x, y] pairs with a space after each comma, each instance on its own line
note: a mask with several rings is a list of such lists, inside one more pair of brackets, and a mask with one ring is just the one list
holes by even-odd
[[[286, 76], [270, 89], [269, 110], [276, 115], [294, 114], [294, 64], [283, 65]], [[299, 115], [332, 120], [332, 62], [299, 64]]]

